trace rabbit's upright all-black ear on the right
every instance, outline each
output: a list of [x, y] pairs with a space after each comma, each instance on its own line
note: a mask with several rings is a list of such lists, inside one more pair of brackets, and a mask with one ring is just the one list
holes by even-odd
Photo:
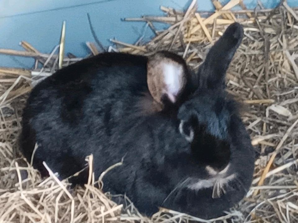
[[242, 25], [233, 23], [211, 47], [198, 71], [198, 81], [201, 88], [214, 89], [223, 86], [225, 73], [242, 38]]

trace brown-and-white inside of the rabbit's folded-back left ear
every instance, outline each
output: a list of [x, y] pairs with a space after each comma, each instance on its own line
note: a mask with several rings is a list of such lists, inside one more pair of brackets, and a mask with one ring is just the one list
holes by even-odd
[[164, 95], [172, 103], [176, 102], [187, 81], [184, 64], [183, 59], [179, 61], [169, 52], [158, 52], [148, 57], [147, 84], [151, 96], [158, 104], [163, 105]]

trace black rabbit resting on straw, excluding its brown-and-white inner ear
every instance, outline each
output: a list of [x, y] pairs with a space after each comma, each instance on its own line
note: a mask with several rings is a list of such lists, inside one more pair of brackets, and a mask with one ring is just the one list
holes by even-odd
[[123, 158], [103, 190], [126, 193], [140, 212], [223, 215], [244, 197], [254, 169], [250, 137], [224, 85], [242, 37], [242, 26], [231, 24], [187, 78], [181, 100], [158, 112], [146, 112], [147, 57], [103, 53], [57, 71], [35, 86], [24, 109], [25, 157], [36, 142], [34, 167], [46, 175], [45, 161], [61, 178], [83, 169], [90, 154], [96, 178]]

